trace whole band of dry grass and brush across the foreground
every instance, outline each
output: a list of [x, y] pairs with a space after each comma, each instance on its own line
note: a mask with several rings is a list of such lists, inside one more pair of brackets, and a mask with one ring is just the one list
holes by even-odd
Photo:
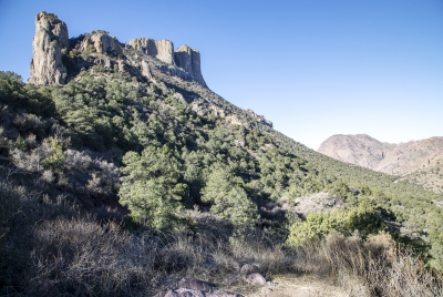
[[38, 188], [3, 183], [0, 190], [0, 296], [151, 296], [183, 277], [250, 291], [240, 275], [245, 264], [269, 280], [327, 278], [351, 296], [443, 296], [441, 275], [384, 233], [367, 240], [333, 233], [287, 249], [266, 231], [233, 234], [214, 217], [195, 215], [193, 224], [202, 222], [194, 232], [130, 232], [62, 197], [41, 202]]

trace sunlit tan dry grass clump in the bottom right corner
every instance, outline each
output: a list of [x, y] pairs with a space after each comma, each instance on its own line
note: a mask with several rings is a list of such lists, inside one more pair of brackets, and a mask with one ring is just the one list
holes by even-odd
[[331, 233], [299, 250], [300, 270], [332, 277], [351, 296], [443, 296], [439, 274], [384, 232], [367, 240]]

